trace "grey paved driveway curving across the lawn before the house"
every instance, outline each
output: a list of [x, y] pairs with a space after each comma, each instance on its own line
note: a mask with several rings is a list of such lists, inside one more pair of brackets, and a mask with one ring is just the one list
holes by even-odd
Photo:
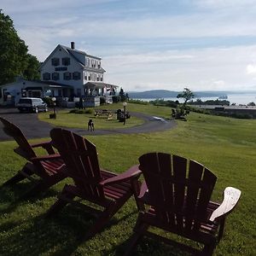
[[[54, 127], [49, 123], [38, 120], [38, 115], [35, 113], [19, 113], [15, 108], [0, 108], [0, 115], [3, 118], [8, 119], [15, 125], [20, 127], [27, 138], [42, 138], [49, 137], [49, 131]], [[144, 123], [142, 125], [132, 126], [130, 128], [121, 128], [114, 130], [96, 130], [87, 131], [85, 129], [73, 128], [69, 130], [74, 131], [80, 135], [107, 135], [107, 134], [129, 134], [129, 133], [144, 133], [144, 132], [154, 132], [154, 131], [166, 131], [171, 129], [176, 125], [174, 120], [165, 120], [158, 117], [149, 116], [143, 113], [131, 113], [131, 116], [136, 116], [137, 118], [143, 119]], [[3, 125], [0, 122], [0, 128]], [[12, 139], [8, 137], [3, 129], [0, 129], [0, 142]]]

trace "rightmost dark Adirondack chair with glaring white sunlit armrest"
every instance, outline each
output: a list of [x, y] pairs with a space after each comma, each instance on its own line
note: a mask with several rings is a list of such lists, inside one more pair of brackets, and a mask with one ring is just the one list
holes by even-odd
[[[144, 235], [193, 254], [212, 255], [223, 236], [225, 217], [236, 206], [241, 191], [231, 187], [224, 189], [224, 201], [219, 205], [210, 201], [217, 177], [194, 160], [149, 153], [143, 154], [139, 162], [145, 182], [137, 200], [143, 207], [137, 204], [140, 212], [125, 255], [130, 255]], [[149, 226], [200, 242], [204, 247], [199, 250], [156, 235], [148, 231]]]

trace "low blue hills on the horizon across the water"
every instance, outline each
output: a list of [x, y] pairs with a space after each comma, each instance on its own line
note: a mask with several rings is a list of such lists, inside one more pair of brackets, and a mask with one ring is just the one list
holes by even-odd
[[[181, 91], [175, 90], [145, 90], [145, 91], [130, 91], [128, 95], [131, 99], [162, 99], [176, 98]], [[228, 91], [194, 91], [195, 98], [224, 96]]]

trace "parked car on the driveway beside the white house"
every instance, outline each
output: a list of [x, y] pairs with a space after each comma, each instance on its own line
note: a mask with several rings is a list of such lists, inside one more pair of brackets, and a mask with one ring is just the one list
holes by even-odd
[[43, 102], [41, 98], [20, 98], [16, 107], [22, 112], [33, 112], [38, 113], [39, 111], [47, 112], [47, 104]]

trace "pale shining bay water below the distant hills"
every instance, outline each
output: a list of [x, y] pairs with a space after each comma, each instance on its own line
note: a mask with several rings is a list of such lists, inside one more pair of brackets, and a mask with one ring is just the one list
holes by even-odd
[[[242, 93], [242, 94], [228, 94], [227, 95], [228, 98], [226, 99], [227, 101], [230, 102], [230, 104], [232, 103], [236, 103], [236, 105], [247, 105], [250, 102], [254, 102], [256, 104], [256, 93]], [[193, 98], [193, 101], [196, 101], [198, 98], [195, 97]], [[217, 100], [218, 97], [201, 97], [200, 98], [202, 102], [205, 102], [207, 100]], [[151, 99], [139, 99], [142, 100], [144, 102], [150, 102], [150, 101], [154, 101], [156, 100], [156, 98], [151, 98]], [[173, 97], [173, 98], [164, 98], [165, 101], [179, 101], [179, 102], [183, 102], [182, 98], [177, 98], [177, 97]], [[221, 99], [220, 99], [221, 100]]]

